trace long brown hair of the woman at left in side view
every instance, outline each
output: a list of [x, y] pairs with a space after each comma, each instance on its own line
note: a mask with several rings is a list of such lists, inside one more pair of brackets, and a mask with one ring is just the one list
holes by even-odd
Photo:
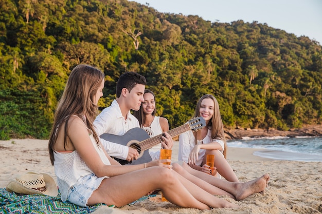
[[55, 112], [48, 142], [52, 165], [54, 161], [54, 147], [62, 123], [65, 123], [64, 148], [67, 145], [68, 120], [71, 115], [77, 115], [83, 118], [83, 120], [85, 118], [84, 122], [87, 128], [92, 130], [93, 137], [99, 145], [99, 138], [93, 126], [95, 117], [98, 114], [94, 98], [103, 80], [104, 74], [99, 69], [90, 65], [78, 65], [70, 72], [63, 95]]

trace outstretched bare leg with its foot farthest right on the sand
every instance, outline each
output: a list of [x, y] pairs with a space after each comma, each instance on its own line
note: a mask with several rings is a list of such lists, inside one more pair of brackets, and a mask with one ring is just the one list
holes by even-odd
[[[176, 165], [176, 163], [174, 163], [173, 165]], [[213, 176], [209, 176], [209, 174], [206, 174], [204, 172], [192, 169], [186, 163], [183, 163], [182, 167], [193, 176], [198, 177], [199, 179], [204, 180], [215, 187], [218, 187], [226, 192], [231, 193], [233, 196], [235, 196], [235, 199], [237, 201], [245, 199], [251, 194], [264, 191], [265, 187], [267, 186], [270, 180], [269, 174], [264, 174], [262, 177], [245, 183], [229, 182], [215, 178]], [[173, 168], [176, 169], [177, 166], [174, 166]]]

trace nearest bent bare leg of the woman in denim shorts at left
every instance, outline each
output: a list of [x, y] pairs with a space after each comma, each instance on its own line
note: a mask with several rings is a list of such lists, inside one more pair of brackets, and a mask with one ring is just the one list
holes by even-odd
[[195, 199], [173, 172], [164, 167], [150, 167], [104, 179], [87, 205], [105, 203], [120, 207], [154, 189], [161, 189], [168, 201], [177, 206], [210, 209], [208, 205]]

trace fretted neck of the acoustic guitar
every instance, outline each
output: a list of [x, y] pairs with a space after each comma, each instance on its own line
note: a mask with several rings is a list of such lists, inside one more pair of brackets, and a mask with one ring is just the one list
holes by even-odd
[[[174, 138], [181, 133], [189, 131], [190, 129], [191, 128], [190, 128], [189, 124], [184, 124], [182, 126], [179, 126], [179, 127], [176, 127], [174, 129], [167, 131], [167, 133], [170, 134], [171, 138]], [[159, 135], [156, 135], [156, 136], [149, 138], [147, 140], [141, 141], [139, 143], [141, 150], [145, 151], [145, 150], [150, 149], [153, 146], [159, 144], [162, 139], [162, 136], [163, 136], [163, 134], [159, 134]]]

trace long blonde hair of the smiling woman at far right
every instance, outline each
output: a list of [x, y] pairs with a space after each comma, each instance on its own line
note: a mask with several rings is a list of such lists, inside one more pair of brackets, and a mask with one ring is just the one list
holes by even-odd
[[[203, 95], [194, 110], [194, 114], [193, 114], [193, 118], [196, 116], [200, 116], [200, 107], [201, 107], [201, 102], [204, 99], [211, 99], [214, 103], [214, 109], [213, 109], [213, 115], [212, 115], [212, 119], [209, 121], [209, 123], [206, 125], [205, 128], [207, 129], [211, 129], [211, 139], [218, 139], [218, 140], [222, 140], [224, 142], [225, 148], [223, 151], [224, 157], [226, 158], [226, 153], [227, 153], [227, 143], [226, 143], [226, 138], [225, 138], [225, 132], [224, 132], [224, 125], [223, 122], [221, 120], [221, 114], [220, 114], [220, 110], [219, 110], [219, 104], [216, 98], [214, 98], [213, 95], [211, 94], [205, 94]], [[201, 131], [196, 131], [194, 132], [194, 137], [195, 137], [195, 144], [197, 144], [197, 136], [201, 133]]]

